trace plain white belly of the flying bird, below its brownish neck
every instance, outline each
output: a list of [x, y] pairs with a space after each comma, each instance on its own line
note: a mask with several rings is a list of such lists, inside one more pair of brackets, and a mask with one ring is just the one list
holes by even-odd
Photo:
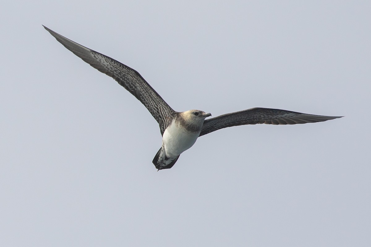
[[200, 132], [188, 132], [184, 128], [180, 128], [175, 123], [172, 123], [164, 131], [162, 136], [162, 145], [165, 148], [167, 157], [178, 156], [188, 148], [192, 147], [196, 142]]

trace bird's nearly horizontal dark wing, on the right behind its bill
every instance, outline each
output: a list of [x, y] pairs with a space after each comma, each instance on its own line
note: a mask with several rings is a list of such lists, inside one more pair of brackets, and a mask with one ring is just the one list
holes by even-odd
[[245, 124], [303, 124], [337, 118], [339, 117], [319, 116], [295, 111], [256, 107], [206, 119], [202, 126], [200, 136], [220, 130], [221, 128]]

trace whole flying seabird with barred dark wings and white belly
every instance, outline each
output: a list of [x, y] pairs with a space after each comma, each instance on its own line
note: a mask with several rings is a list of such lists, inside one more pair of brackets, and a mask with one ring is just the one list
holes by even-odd
[[115, 79], [150, 111], [162, 135], [161, 148], [152, 161], [158, 170], [173, 167], [180, 154], [192, 147], [198, 137], [221, 128], [244, 124], [315, 123], [339, 118], [268, 108], [251, 108], [211, 119], [206, 119], [210, 113], [200, 110], [174, 111], [134, 69], [43, 27], [76, 56]]

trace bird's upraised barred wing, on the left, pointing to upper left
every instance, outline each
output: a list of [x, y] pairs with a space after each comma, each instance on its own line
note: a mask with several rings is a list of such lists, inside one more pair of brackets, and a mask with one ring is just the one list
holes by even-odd
[[161, 96], [143, 79], [143, 77], [134, 69], [107, 57], [104, 54], [93, 51], [72, 40], [63, 37], [43, 26], [52, 36], [56, 38], [63, 46], [72, 51], [86, 63], [95, 69], [111, 76], [121, 86], [134, 95], [150, 111], [160, 126], [161, 134], [164, 133], [167, 126], [170, 125], [175, 111], [161, 98]]

